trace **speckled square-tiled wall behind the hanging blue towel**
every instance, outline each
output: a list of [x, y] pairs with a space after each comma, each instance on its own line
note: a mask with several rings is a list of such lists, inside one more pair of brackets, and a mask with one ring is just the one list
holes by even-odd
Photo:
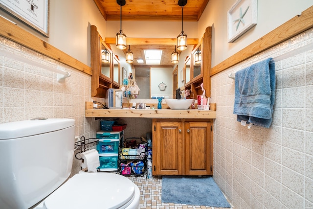
[[275, 63], [269, 129], [241, 126], [228, 74], [313, 43], [313, 29], [212, 77], [214, 179], [238, 209], [313, 209], [313, 49]]

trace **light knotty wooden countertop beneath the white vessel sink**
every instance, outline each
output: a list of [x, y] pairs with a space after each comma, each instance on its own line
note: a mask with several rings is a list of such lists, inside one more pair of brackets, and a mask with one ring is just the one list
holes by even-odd
[[[91, 102], [92, 107], [92, 102]], [[211, 110], [172, 110], [172, 109], [88, 109], [90, 103], [86, 102], [86, 117], [141, 117], [141, 118], [216, 118], [216, 111]]]

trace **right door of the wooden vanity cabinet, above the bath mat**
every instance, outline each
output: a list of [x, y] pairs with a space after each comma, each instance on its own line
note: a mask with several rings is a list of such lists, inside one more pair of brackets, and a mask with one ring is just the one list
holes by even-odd
[[211, 122], [185, 122], [185, 175], [213, 175]]

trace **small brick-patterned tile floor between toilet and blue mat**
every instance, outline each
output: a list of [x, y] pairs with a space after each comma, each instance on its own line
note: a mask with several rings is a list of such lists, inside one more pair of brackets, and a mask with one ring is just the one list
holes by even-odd
[[[140, 189], [139, 209], [224, 209], [206, 206], [191, 206], [184, 204], [162, 203], [162, 177], [146, 179], [146, 176], [128, 177]], [[232, 208], [234, 209], [234, 208]]]

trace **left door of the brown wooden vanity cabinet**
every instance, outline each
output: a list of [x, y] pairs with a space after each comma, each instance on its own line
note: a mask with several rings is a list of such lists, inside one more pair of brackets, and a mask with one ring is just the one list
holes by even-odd
[[153, 123], [153, 175], [182, 175], [181, 122], [157, 121]]

